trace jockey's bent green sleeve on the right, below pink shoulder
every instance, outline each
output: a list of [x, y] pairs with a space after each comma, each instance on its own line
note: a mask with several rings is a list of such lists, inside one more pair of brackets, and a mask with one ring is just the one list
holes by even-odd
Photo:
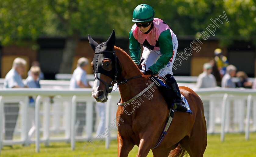
[[161, 56], [158, 58], [155, 64], [149, 67], [149, 69], [157, 74], [162, 68], [164, 68], [172, 58], [172, 35], [170, 30], [163, 31], [158, 38]]

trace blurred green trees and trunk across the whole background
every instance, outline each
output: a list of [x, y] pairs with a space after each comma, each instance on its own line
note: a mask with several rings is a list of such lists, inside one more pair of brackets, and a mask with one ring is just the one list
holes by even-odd
[[[40, 35], [66, 37], [61, 73], [70, 73], [73, 55], [80, 36], [108, 35], [129, 38], [133, 9], [142, 3], [151, 5], [155, 17], [164, 20], [179, 37], [206, 30], [225, 11], [215, 34], [222, 45], [234, 39], [254, 40], [256, 4], [253, 0], [0, 0], [0, 42], [7, 45], [23, 39], [36, 40]], [[223, 19], [225, 20], [225, 19]]]

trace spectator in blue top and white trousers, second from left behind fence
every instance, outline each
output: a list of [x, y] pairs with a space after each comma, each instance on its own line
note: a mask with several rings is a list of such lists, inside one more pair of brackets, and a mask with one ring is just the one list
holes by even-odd
[[[39, 74], [41, 72], [39, 66], [32, 66], [30, 68], [30, 75], [27, 77], [25, 81], [25, 85], [28, 88], [40, 88], [39, 84]], [[27, 130], [28, 130], [28, 140], [30, 141], [31, 138], [35, 134], [36, 123], [35, 123], [35, 101], [32, 97], [30, 97], [30, 101], [28, 104], [27, 109]]]

